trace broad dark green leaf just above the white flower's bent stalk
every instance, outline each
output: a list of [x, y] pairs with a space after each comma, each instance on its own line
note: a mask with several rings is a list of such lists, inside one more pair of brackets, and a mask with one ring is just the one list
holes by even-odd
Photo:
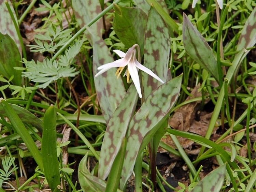
[[143, 53], [147, 15], [138, 7], [125, 7], [114, 4], [115, 17], [113, 28], [118, 38], [127, 48], [134, 44]]

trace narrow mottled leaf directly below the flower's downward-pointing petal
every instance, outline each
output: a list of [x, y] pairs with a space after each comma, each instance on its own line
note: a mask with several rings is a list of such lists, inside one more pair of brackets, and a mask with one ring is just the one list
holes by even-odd
[[138, 94], [134, 85], [128, 89], [124, 99], [116, 108], [104, 135], [100, 150], [98, 177], [105, 180], [109, 175], [113, 161], [120, 149], [127, 132], [129, 122], [133, 116]]

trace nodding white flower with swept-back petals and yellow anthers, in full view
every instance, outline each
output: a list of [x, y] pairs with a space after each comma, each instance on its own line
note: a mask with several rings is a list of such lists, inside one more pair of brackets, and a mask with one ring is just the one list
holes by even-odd
[[[125, 72], [125, 75], [127, 76], [127, 83], [129, 83], [130, 76], [131, 79], [136, 87], [136, 90], [139, 94], [139, 97], [142, 98], [141, 94], [141, 87], [140, 87], [140, 79], [138, 70], [144, 71], [148, 75], [151, 75], [155, 79], [157, 79], [159, 82], [164, 83], [155, 73], [153, 73], [150, 69], [144, 67], [142, 64], [140, 64], [136, 59], [136, 47], [139, 47], [139, 45], [135, 44], [131, 48], [128, 49], [126, 53], [120, 50], [113, 50], [121, 59], [118, 59], [111, 63], [106, 63], [104, 65], [101, 65], [98, 67], [98, 70], [100, 70], [95, 77], [99, 76], [100, 74], [108, 71], [111, 68], [119, 67], [116, 71], [117, 78], [120, 76], [122, 71], [124, 70], [125, 66], [127, 65], [127, 70]], [[138, 69], [137, 69], [138, 68]]]

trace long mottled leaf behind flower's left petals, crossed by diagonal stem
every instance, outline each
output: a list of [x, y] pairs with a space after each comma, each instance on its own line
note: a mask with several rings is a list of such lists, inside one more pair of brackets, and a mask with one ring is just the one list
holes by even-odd
[[[80, 27], [89, 23], [91, 19], [101, 12], [100, 3], [95, 0], [72, 0], [72, 5]], [[102, 39], [102, 31], [102, 19], [99, 19], [85, 31], [87, 38], [93, 46], [94, 74], [98, 72], [97, 68], [100, 65], [113, 62], [113, 58], [108, 47]], [[122, 79], [116, 79], [115, 71], [115, 69], [110, 69], [94, 79], [98, 100], [107, 123], [125, 95], [125, 88]]]

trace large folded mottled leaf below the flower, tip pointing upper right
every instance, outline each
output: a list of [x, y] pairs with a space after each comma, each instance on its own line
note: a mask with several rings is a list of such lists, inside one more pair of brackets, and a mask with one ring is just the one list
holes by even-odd
[[138, 154], [141, 154], [176, 103], [181, 82], [182, 75], [155, 89], [133, 116], [126, 134], [127, 151], [120, 180], [121, 189], [124, 189], [132, 173]]

